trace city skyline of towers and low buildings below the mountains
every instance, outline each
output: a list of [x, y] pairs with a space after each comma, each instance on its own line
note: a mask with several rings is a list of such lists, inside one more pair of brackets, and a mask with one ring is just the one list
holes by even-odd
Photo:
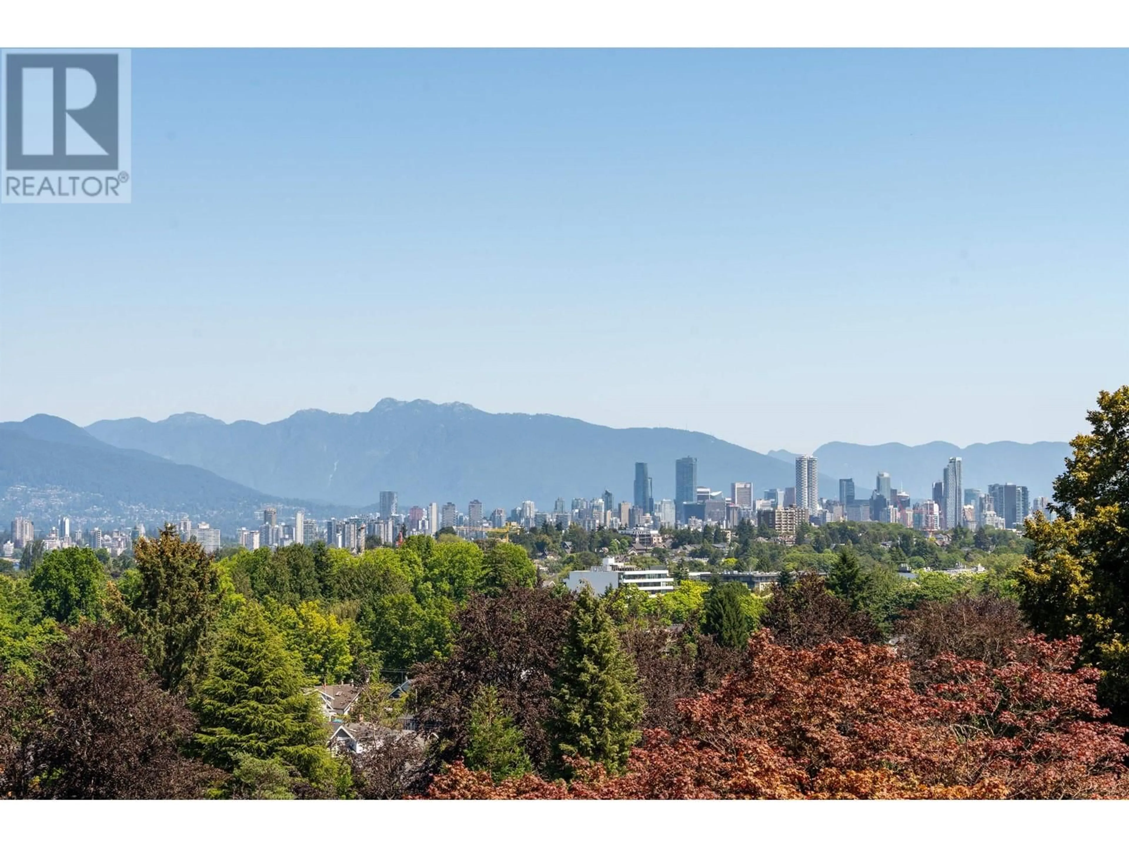
[[[675, 461], [675, 499], [653, 497], [651, 478], [646, 462], [634, 463], [634, 501], [615, 503], [607, 489], [594, 498], [574, 497], [571, 507], [564, 507], [564, 498], [558, 496], [552, 512], [536, 508], [534, 500], [523, 500], [506, 515], [504, 508], [495, 508], [490, 517], [484, 517], [480, 499], [471, 499], [465, 513], [460, 512], [454, 501], [448, 500], [438, 518], [437, 501], [428, 504], [427, 510], [420, 505], [408, 509], [399, 506], [399, 494], [380, 491], [378, 512], [353, 513], [349, 517], [313, 518], [306, 521], [303, 508], [295, 510], [294, 522], [278, 522], [278, 507], [263, 506], [263, 523], [259, 530], [239, 526], [234, 533], [236, 544], [248, 550], [260, 547], [278, 548], [288, 544], [310, 544], [318, 540], [330, 547], [351, 550], [366, 549], [368, 539], [380, 544], [399, 544], [405, 536], [434, 534], [439, 530], [453, 530], [466, 539], [484, 539], [491, 530], [520, 526], [533, 530], [541, 525], [555, 524], [567, 529], [577, 524], [585, 530], [610, 529], [616, 532], [642, 531], [657, 533], [673, 527], [703, 529], [724, 526], [734, 530], [743, 522], [767, 526], [774, 532], [793, 534], [799, 524], [811, 522], [825, 525], [842, 521], [860, 523], [890, 523], [926, 532], [954, 531], [961, 527], [990, 527], [1019, 531], [1024, 519], [1033, 512], [1048, 514], [1049, 501], [1044, 497], [1031, 500], [1026, 486], [990, 483], [988, 494], [975, 488], [962, 487], [962, 459], [949, 457], [942, 470], [942, 479], [935, 482], [931, 498], [912, 498], [905, 491], [892, 487], [891, 474], [879, 470], [875, 474], [875, 487], [869, 498], [856, 498], [856, 486], [851, 478], [838, 480], [839, 499], [822, 498], [817, 487], [817, 460], [811, 455], [795, 459], [796, 486], [785, 489], [765, 489], [762, 498], [755, 496], [752, 481], [729, 483], [730, 496], [714, 491], [710, 486], [697, 486], [697, 459], [684, 456]], [[642, 500], [642, 504], [639, 500]], [[324, 510], [324, 509], [323, 509]], [[58, 524], [44, 536], [49, 549], [60, 549], [72, 544], [69, 516], [60, 516]], [[146, 534], [145, 525], [138, 522], [132, 531], [117, 529], [103, 533], [98, 525], [89, 530], [87, 524], [103, 521], [76, 521], [75, 539], [98, 547], [102, 538], [113, 538], [112, 547], [117, 553], [125, 549], [130, 539]], [[108, 524], [115, 523], [110, 521]], [[120, 523], [120, 522], [119, 522]], [[170, 518], [164, 524], [173, 525]], [[5, 542], [5, 555], [17, 547], [26, 545], [34, 539], [34, 522], [16, 515], [10, 524], [10, 538]], [[81, 527], [81, 529], [80, 529]], [[208, 522], [193, 524], [187, 514], [176, 521], [180, 536], [184, 541], [194, 539], [205, 552], [216, 552], [222, 545], [219, 527]], [[41, 533], [42, 535], [42, 533]], [[96, 539], [96, 540], [91, 540]]]

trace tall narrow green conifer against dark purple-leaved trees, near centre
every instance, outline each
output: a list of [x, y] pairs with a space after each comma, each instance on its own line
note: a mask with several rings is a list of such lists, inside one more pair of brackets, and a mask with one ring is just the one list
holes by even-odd
[[569, 617], [553, 683], [550, 735], [562, 771], [564, 757], [583, 757], [619, 771], [639, 741], [644, 701], [636, 667], [620, 646], [615, 625], [585, 586]]

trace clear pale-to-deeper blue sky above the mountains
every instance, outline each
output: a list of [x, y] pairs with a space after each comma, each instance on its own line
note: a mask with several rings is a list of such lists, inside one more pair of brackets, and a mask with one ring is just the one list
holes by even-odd
[[1059, 439], [1127, 283], [1126, 51], [134, 51], [132, 204], [0, 207], [0, 418]]

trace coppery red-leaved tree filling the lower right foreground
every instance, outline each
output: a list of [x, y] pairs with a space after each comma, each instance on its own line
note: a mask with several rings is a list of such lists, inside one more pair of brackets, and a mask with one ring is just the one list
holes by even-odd
[[1127, 796], [1124, 730], [1103, 722], [1096, 672], [1071, 670], [1077, 649], [1077, 639], [1029, 638], [995, 667], [943, 654], [914, 684], [890, 647], [788, 648], [762, 631], [741, 670], [681, 701], [677, 732], [649, 732], [620, 776], [580, 765], [570, 783], [495, 785], [456, 762], [428, 796]]

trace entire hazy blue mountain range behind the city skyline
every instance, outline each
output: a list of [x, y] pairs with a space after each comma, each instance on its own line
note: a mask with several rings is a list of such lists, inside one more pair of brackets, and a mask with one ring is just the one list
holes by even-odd
[[[825, 497], [838, 496], [841, 477], [866, 497], [875, 474], [887, 471], [895, 487], [926, 498], [953, 455], [963, 460], [965, 488], [1016, 482], [1039, 497], [1051, 495], [1069, 452], [1062, 442], [831, 442], [815, 455]], [[703, 433], [386, 399], [367, 412], [306, 409], [273, 424], [191, 412], [86, 429], [45, 414], [0, 424], [0, 506], [46, 516], [187, 513], [224, 529], [257, 526], [264, 504], [318, 516], [373, 512], [380, 490], [397, 491], [402, 508], [449, 499], [465, 509], [476, 498], [487, 510], [523, 499], [551, 510], [557, 497], [570, 505], [604, 489], [632, 500], [637, 461], [649, 465], [655, 499], [673, 498], [674, 461], [684, 455], [698, 459], [700, 486], [725, 494], [733, 481], [752, 481], [756, 495], [795, 483], [796, 454], [763, 455]]]

